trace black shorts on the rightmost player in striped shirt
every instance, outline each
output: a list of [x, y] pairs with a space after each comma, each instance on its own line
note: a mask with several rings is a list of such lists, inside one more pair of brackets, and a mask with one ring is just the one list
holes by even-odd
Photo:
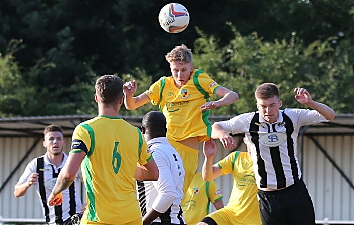
[[263, 225], [315, 225], [315, 211], [305, 183], [278, 191], [258, 190]]

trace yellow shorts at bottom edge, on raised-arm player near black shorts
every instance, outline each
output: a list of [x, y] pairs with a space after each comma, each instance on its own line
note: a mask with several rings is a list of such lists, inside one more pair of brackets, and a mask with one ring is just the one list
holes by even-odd
[[[242, 218], [237, 218], [235, 213], [229, 208], [224, 207], [215, 212], [210, 213], [206, 217], [212, 218], [217, 224], [235, 224], [235, 225], [252, 225], [249, 221], [241, 221]], [[258, 224], [261, 225], [262, 222], [259, 220]]]

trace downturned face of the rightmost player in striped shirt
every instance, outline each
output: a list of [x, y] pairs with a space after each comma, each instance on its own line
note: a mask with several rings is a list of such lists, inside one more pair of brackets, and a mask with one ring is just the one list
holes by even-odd
[[279, 108], [282, 106], [282, 101], [274, 96], [269, 99], [257, 99], [257, 108], [260, 115], [265, 121], [269, 123], [274, 123], [277, 121], [279, 116]]

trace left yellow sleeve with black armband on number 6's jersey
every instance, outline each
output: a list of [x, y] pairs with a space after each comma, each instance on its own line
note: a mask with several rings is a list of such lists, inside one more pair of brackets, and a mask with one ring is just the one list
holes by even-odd
[[71, 147], [70, 147], [70, 152], [71, 153], [76, 153], [76, 152], [86, 152], [86, 154], [89, 154], [91, 148], [91, 138], [90, 138], [90, 133], [85, 129], [81, 124], [76, 126], [73, 134], [72, 134], [72, 141], [71, 141]]

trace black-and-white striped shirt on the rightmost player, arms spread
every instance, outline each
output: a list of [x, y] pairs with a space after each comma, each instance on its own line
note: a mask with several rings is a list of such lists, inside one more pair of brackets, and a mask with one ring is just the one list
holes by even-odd
[[[301, 178], [300, 165], [296, 157], [300, 127], [325, 121], [328, 122], [316, 110], [284, 109], [280, 110], [275, 123], [266, 122], [259, 112], [251, 112], [217, 124], [228, 133], [246, 133], [251, 143], [258, 188], [280, 189], [294, 184]], [[272, 133], [275, 134], [274, 140], [278, 140], [277, 133], [282, 133], [284, 142], [265, 146], [263, 136], [272, 141]]]

